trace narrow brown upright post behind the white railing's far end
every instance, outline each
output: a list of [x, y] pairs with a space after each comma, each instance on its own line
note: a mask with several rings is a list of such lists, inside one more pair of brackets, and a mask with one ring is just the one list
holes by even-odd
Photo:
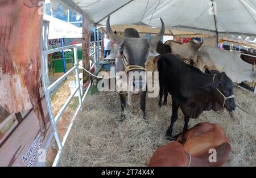
[[[82, 15], [82, 65], [90, 71], [90, 20]], [[90, 75], [83, 70], [83, 88], [86, 89]]]

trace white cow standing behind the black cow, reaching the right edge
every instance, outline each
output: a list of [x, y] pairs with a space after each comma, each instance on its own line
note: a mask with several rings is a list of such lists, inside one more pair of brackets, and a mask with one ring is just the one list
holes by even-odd
[[236, 83], [256, 79], [256, 67], [242, 61], [240, 54], [212, 46], [201, 46], [197, 50], [196, 66], [203, 72], [205, 69], [224, 71]]

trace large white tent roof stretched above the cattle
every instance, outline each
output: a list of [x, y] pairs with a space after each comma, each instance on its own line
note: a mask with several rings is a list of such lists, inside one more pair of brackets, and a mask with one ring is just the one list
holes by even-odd
[[[51, 0], [86, 15], [96, 26], [144, 25], [180, 33], [206, 33], [220, 37], [256, 37], [256, 0]], [[213, 6], [212, 6], [213, 4]]]

